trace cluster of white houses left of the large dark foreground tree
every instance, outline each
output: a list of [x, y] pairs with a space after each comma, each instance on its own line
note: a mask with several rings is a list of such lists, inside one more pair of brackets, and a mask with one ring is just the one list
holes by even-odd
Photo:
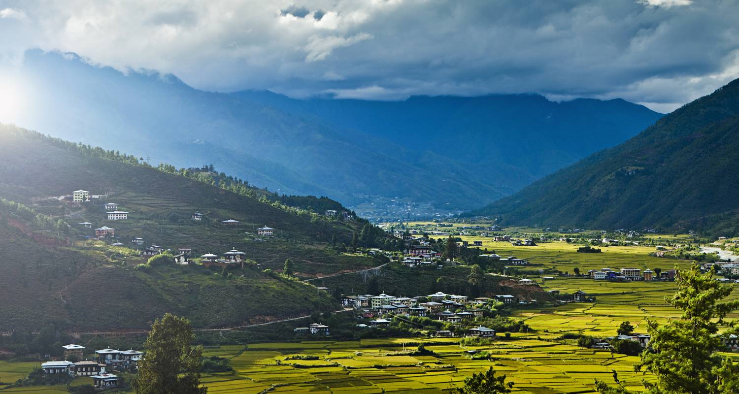
[[[95, 350], [91, 360], [84, 359], [85, 347], [78, 344], [67, 344], [64, 348], [64, 360], [47, 361], [41, 364], [44, 375], [66, 373], [69, 376], [89, 376], [98, 388], [117, 387], [120, 379], [106, 369], [133, 368], [137, 369], [139, 361], [144, 356], [138, 350], [103, 349]], [[82, 361], [68, 361], [77, 359]]]

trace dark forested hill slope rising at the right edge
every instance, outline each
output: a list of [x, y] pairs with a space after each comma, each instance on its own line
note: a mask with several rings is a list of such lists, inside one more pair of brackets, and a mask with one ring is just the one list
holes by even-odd
[[472, 211], [503, 224], [739, 234], [739, 80], [636, 137]]

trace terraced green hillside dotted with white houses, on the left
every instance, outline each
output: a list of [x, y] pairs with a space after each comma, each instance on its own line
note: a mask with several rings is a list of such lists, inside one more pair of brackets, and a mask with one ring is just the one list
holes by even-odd
[[[49, 322], [76, 330], [145, 328], [166, 311], [188, 316], [197, 327], [298, 316], [331, 310], [336, 301], [266, 268], [280, 271], [290, 258], [296, 272], [313, 276], [380, 264], [328, 246], [333, 238], [349, 243], [364, 220], [295, 211], [242, 183], [219, 182], [234, 189], [225, 190], [15, 126], [0, 125], [0, 157], [0, 331], [36, 330]], [[78, 189], [108, 197], [81, 204], [61, 197]], [[129, 219], [105, 220], [105, 202], [118, 203]], [[191, 220], [195, 211], [205, 220]], [[222, 225], [229, 219], [240, 225]], [[78, 224], [84, 222], [92, 227]], [[115, 228], [123, 246], [88, 239], [103, 225]], [[276, 237], [258, 236], [255, 229], [263, 225], [275, 228]], [[372, 231], [384, 241], [381, 231]], [[135, 250], [134, 237], [175, 253], [191, 248], [196, 256], [237, 248], [254, 263], [229, 271], [137, 268], [146, 258]]]

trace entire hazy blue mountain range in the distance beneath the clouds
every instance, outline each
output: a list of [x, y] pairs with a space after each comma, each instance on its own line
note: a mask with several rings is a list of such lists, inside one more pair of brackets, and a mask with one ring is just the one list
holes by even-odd
[[661, 117], [622, 100], [534, 94], [383, 102], [205, 92], [173, 75], [124, 74], [58, 52], [27, 52], [24, 75], [32, 100], [13, 119], [21, 126], [154, 165], [214, 164], [252, 185], [327, 195], [360, 213], [388, 200], [483, 206]]

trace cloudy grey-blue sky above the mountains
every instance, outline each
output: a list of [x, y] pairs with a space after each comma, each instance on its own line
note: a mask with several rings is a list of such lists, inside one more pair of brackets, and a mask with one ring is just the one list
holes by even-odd
[[738, 21], [721, 0], [0, 0], [0, 70], [40, 48], [220, 92], [537, 92], [670, 112], [739, 78]]

